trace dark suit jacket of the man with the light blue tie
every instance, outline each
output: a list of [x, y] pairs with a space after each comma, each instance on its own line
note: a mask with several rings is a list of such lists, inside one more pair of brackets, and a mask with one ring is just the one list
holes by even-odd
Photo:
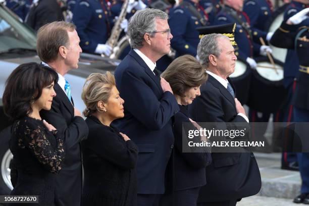
[[56, 204], [80, 205], [82, 164], [80, 141], [87, 137], [88, 126], [81, 117], [74, 117], [74, 107], [64, 90], [55, 84], [52, 109], [41, 110], [42, 119], [65, 134], [65, 161], [56, 178]]

